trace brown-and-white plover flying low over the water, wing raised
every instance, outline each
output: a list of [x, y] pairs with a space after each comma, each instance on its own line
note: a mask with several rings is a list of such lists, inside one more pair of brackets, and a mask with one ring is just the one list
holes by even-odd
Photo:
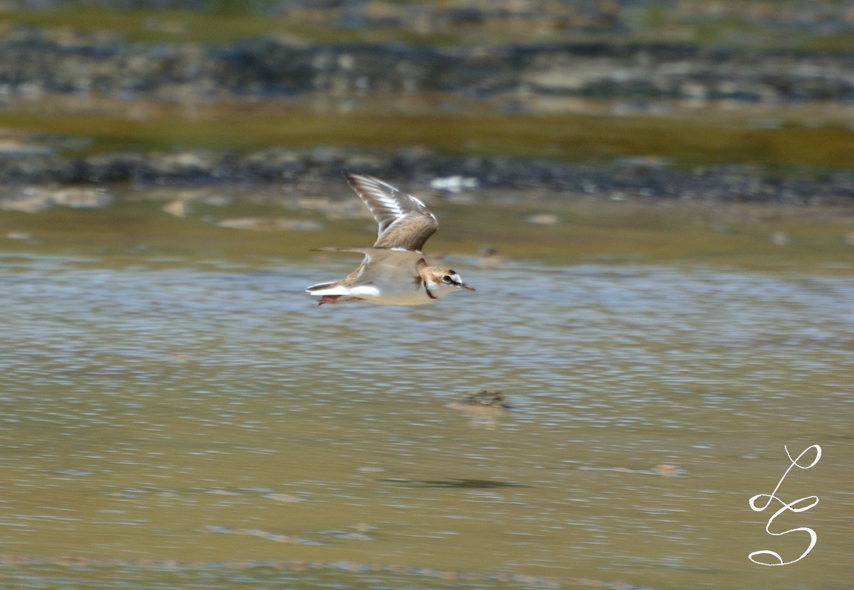
[[439, 224], [427, 207], [411, 194], [360, 174], [344, 173], [350, 187], [365, 201], [379, 225], [371, 248], [320, 248], [358, 252], [365, 256], [358, 269], [341, 281], [309, 286], [318, 304], [365, 301], [378, 305], [421, 305], [454, 291], [474, 291], [451, 269], [424, 262], [424, 242]]

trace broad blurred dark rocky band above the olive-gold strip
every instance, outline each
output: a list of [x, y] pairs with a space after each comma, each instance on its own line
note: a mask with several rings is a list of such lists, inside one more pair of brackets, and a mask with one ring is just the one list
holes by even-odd
[[135, 45], [15, 29], [0, 43], [3, 95], [102, 93], [123, 100], [369, 91], [781, 103], [854, 101], [854, 55], [692, 43], [443, 48], [275, 37], [207, 47]]

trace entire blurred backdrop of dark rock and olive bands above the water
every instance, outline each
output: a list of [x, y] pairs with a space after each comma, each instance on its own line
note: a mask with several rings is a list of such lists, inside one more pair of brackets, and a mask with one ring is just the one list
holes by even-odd
[[[347, 169], [459, 202], [642, 202], [718, 229], [770, 221], [724, 204], [797, 205], [785, 221], [854, 242], [839, 218], [850, 2], [4, 0], [0, 32], [6, 211], [132, 189], [180, 215], [250, 193], [334, 217], [295, 199], [346, 194]], [[779, 246], [798, 228], [761, 232]]]

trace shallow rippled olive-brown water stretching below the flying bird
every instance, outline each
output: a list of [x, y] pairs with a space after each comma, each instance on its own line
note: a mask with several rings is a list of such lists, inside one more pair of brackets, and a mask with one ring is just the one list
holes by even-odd
[[[497, 268], [458, 257], [475, 293], [318, 308], [304, 286], [356, 261], [303, 251], [369, 240], [362, 222], [284, 236], [115, 206], [3, 213], [30, 235], [0, 251], [0, 587], [850, 585], [839, 228], [820, 268], [819, 226], [787, 226], [787, 257], [765, 227], [730, 252], [605, 214], [590, 243], [637, 256], [553, 238]], [[474, 252], [452, 219], [436, 249]], [[481, 219], [507, 252], [572, 234]], [[485, 388], [515, 409], [447, 406]], [[806, 550], [748, 500], [812, 444], [778, 495], [820, 503], [772, 530], [816, 547], [752, 564]]]

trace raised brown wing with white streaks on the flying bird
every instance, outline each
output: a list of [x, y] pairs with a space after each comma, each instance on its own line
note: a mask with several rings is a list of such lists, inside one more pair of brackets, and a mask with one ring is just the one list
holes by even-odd
[[379, 229], [375, 248], [420, 251], [439, 224], [418, 198], [401, 193], [390, 184], [360, 174], [346, 173], [350, 187], [365, 201]]

